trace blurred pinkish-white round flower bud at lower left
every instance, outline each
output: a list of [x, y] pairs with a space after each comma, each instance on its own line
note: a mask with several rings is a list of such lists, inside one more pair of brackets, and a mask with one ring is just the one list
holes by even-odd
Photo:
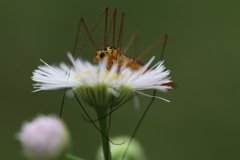
[[40, 115], [24, 123], [17, 134], [23, 152], [31, 160], [58, 159], [69, 145], [70, 136], [65, 124], [56, 116]]

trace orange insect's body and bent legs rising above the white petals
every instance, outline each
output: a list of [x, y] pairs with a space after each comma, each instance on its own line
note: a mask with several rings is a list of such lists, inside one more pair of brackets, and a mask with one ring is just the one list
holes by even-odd
[[[102, 18], [102, 16], [104, 15], [105, 13], [105, 27], [104, 27], [104, 48], [102, 50], [98, 50], [96, 44], [94, 43], [94, 40], [92, 39], [92, 33], [94, 31], [94, 29], [96, 28], [98, 22], [100, 21], [100, 19]], [[85, 28], [85, 31], [87, 32], [88, 34], [88, 38], [87, 40], [85, 41], [85, 43], [83, 44], [82, 48], [80, 49], [80, 51], [78, 52], [77, 56], [75, 58], [77, 58], [80, 53], [82, 52], [83, 48], [85, 47], [86, 43], [88, 42], [88, 40], [90, 40], [96, 50], [96, 56], [94, 58], [94, 62], [98, 62], [100, 60], [102, 60], [104, 57], [108, 57], [108, 62], [107, 62], [107, 69], [111, 69], [113, 64], [114, 63], [117, 63], [118, 66], [119, 66], [119, 69], [122, 67], [122, 65], [125, 65], [129, 68], [131, 68], [132, 70], [138, 70], [140, 68], [142, 68], [144, 66], [144, 64], [140, 63], [139, 62], [139, 59], [141, 57], [143, 57], [146, 53], [148, 53], [151, 49], [153, 49], [157, 44], [159, 44], [161, 41], [164, 40], [164, 43], [163, 43], [163, 48], [162, 48], [162, 53], [161, 53], [161, 58], [160, 59], [163, 59], [163, 52], [164, 52], [164, 48], [165, 48], [165, 45], [166, 45], [166, 40], [167, 40], [167, 37], [168, 35], [165, 34], [164, 36], [162, 36], [160, 39], [158, 39], [152, 46], [150, 46], [145, 52], [143, 52], [139, 57], [137, 57], [136, 59], [133, 59], [131, 57], [129, 57], [128, 55], [126, 55], [125, 53], [127, 52], [130, 44], [132, 43], [132, 41], [136, 38], [136, 36], [138, 35], [138, 32], [135, 32], [131, 39], [129, 40], [128, 42], [128, 45], [127, 47], [124, 49], [124, 51], [122, 52], [118, 47], [120, 46], [121, 44], [121, 39], [122, 39], [122, 30], [123, 30], [123, 22], [124, 22], [124, 13], [122, 14], [122, 18], [121, 18], [121, 22], [120, 22], [120, 30], [119, 30], [119, 34], [118, 34], [118, 41], [117, 41], [117, 47], [115, 47], [115, 30], [116, 30], [116, 26], [115, 26], [115, 23], [116, 23], [116, 9], [114, 9], [114, 12], [113, 12], [113, 17], [112, 17], [112, 21], [110, 23], [110, 28], [109, 30], [107, 30], [107, 21], [108, 21], [108, 8], [106, 7], [102, 14], [100, 15], [100, 17], [98, 18], [97, 22], [95, 23], [93, 29], [91, 31], [88, 30], [83, 18], [80, 19], [79, 21], [79, 26], [78, 26], [78, 31], [77, 31], [77, 36], [76, 36], [76, 41], [75, 41], [75, 45], [74, 45], [74, 49], [73, 49], [73, 53], [76, 49], [76, 45], [77, 45], [77, 41], [78, 41], [78, 33], [79, 33], [79, 29], [80, 29], [80, 24], [82, 24]], [[106, 45], [107, 42], [108, 42], [108, 36], [109, 36], [109, 33], [110, 33], [110, 30], [111, 30], [111, 27], [112, 27], [112, 43], [111, 45]], [[125, 52], [125, 53], [124, 53]], [[147, 72], [148, 69], [145, 71]], [[167, 84], [163, 84], [163, 85], [167, 85], [167, 86], [173, 86], [172, 83], [167, 83]]]

